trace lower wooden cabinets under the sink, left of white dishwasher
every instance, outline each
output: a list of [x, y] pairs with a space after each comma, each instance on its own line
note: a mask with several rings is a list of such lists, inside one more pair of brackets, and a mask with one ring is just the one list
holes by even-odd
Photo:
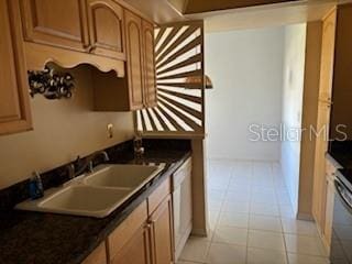
[[84, 264], [174, 263], [170, 178], [165, 179]]

